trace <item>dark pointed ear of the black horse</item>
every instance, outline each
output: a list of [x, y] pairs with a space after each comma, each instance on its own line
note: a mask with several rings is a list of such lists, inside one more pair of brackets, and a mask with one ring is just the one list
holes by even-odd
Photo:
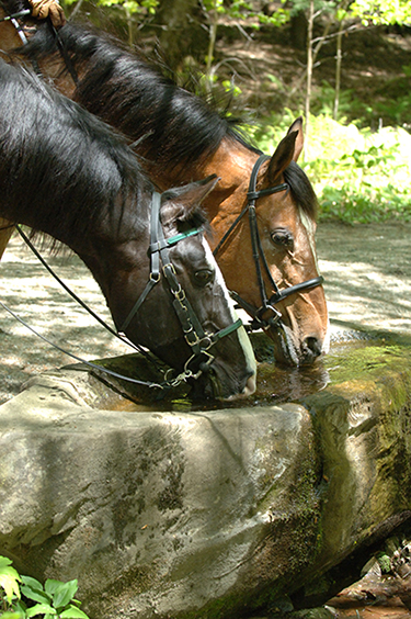
[[212, 175], [201, 181], [165, 191], [162, 194], [163, 206], [161, 207], [163, 225], [176, 220], [190, 218], [219, 180], [217, 175]]

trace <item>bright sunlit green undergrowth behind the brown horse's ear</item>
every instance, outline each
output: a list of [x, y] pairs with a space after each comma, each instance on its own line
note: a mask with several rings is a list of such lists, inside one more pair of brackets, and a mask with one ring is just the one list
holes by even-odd
[[[286, 110], [281, 123], [271, 119], [270, 126], [250, 133], [262, 150], [273, 153], [297, 115]], [[310, 123], [310, 160], [301, 166], [319, 196], [320, 218], [351, 224], [411, 221], [409, 133], [359, 130], [324, 114], [311, 116]]]

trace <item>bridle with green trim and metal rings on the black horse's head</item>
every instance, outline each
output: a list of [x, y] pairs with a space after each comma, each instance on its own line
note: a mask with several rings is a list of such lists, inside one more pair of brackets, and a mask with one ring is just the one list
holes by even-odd
[[[207, 372], [209, 365], [214, 361], [213, 354], [209, 349], [222, 337], [236, 331], [242, 326], [242, 320], [239, 318], [228, 327], [220, 329], [214, 334], [206, 333], [195, 312], [185, 296], [184, 290], [181, 288], [176, 279], [175, 269], [170, 260], [169, 247], [176, 245], [184, 238], [199, 234], [198, 228], [192, 228], [187, 232], [174, 235], [170, 238], [164, 238], [160, 221], [161, 194], [153, 192], [151, 202], [151, 224], [150, 224], [150, 277], [140, 296], [137, 299], [128, 316], [118, 329], [119, 334], [124, 334], [128, 325], [136, 316], [138, 310], [141, 307], [144, 301], [147, 299], [149, 292], [161, 279], [163, 273], [168, 288], [172, 294], [173, 308], [180, 320], [183, 329], [184, 338], [192, 350], [192, 356], [184, 364], [184, 380], [187, 378], [197, 379], [202, 372]], [[162, 265], [162, 268], [161, 268]], [[181, 382], [182, 376], [178, 376]]]

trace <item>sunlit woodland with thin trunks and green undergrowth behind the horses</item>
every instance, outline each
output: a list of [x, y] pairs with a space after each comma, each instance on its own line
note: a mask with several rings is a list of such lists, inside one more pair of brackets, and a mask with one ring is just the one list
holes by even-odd
[[408, 0], [62, 0], [274, 151], [305, 119], [320, 220], [411, 221]]

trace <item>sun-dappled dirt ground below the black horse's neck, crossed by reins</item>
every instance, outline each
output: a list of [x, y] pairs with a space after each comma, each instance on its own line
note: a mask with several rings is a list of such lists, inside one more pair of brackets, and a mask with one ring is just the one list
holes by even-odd
[[[113, 326], [105, 300], [81, 260], [77, 256], [45, 254], [45, 257], [64, 282]], [[0, 301], [42, 336], [84, 360], [130, 351], [61, 289], [18, 237], [11, 239], [0, 262]], [[0, 402], [16, 395], [31, 375], [76, 363], [3, 308], [0, 308]]]

